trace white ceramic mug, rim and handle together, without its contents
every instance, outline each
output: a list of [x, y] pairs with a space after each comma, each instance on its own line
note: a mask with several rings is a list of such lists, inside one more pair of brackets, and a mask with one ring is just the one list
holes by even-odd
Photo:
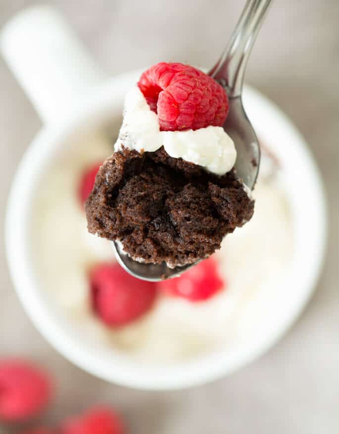
[[5, 240], [17, 294], [46, 339], [73, 363], [100, 378], [153, 390], [190, 387], [230, 374], [277, 342], [315, 287], [324, 258], [327, 221], [318, 170], [286, 116], [259, 92], [245, 89], [244, 104], [254, 128], [264, 142], [277, 143], [276, 153], [290, 180], [294, 256], [291, 273], [283, 282], [285, 287], [294, 287], [290, 297], [271, 306], [254, 339], [190, 361], [142, 364], [119, 351], [97, 350], [77, 335], [33, 272], [30, 234], [32, 200], [46, 167], [76, 131], [121, 117], [124, 94], [140, 72], [104, 80], [105, 74], [49, 6], [36, 6], [14, 17], [1, 33], [1, 51], [45, 123], [17, 170], [8, 201]]

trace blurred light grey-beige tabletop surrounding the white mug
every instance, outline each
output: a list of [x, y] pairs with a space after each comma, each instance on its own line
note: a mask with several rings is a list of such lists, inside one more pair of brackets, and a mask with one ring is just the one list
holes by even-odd
[[[212, 64], [243, 2], [51, 3], [61, 9], [98, 63], [117, 74], [159, 60]], [[32, 3], [0, 0], [0, 25]], [[29, 355], [54, 372], [58, 394], [44, 421], [56, 422], [61, 415], [95, 402], [108, 402], [125, 415], [131, 434], [339, 432], [339, 1], [273, 3], [254, 47], [247, 79], [293, 119], [309, 142], [325, 180], [331, 233], [328, 260], [315, 296], [276, 347], [232, 377], [189, 391], [131, 391], [80, 371], [40, 337], [13, 292], [1, 246], [0, 355]], [[2, 227], [15, 168], [40, 128], [37, 115], [2, 60], [0, 113]], [[0, 238], [3, 245], [2, 231]]]

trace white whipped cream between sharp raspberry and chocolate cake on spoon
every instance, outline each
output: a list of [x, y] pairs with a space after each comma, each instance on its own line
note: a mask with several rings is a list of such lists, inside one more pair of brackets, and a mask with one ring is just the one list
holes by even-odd
[[138, 152], [154, 152], [164, 146], [171, 157], [182, 158], [217, 175], [229, 172], [237, 158], [233, 140], [221, 127], [160, 131], [156, 113], [137, 86], [125, 97], [124, 119], [114, 150], [122, 146]]

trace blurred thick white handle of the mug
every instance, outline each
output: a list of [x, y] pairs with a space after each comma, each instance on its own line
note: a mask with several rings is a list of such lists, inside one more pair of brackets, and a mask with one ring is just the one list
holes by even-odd
[[52, 6], [29, 7], [10, 19], [0, 50], [46, 124], [62, 122], [106, 78]]

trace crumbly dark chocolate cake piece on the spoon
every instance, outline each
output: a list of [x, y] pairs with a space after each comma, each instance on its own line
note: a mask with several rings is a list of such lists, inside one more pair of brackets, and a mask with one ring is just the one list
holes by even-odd
[[86, 202], [88, 229], [120, 240], [132, 259], [171, 267], [203, 259], [248, 221], [254, 201], [234, 171], [223, 176], [160, 148], [123, 148], [99, 169]]

